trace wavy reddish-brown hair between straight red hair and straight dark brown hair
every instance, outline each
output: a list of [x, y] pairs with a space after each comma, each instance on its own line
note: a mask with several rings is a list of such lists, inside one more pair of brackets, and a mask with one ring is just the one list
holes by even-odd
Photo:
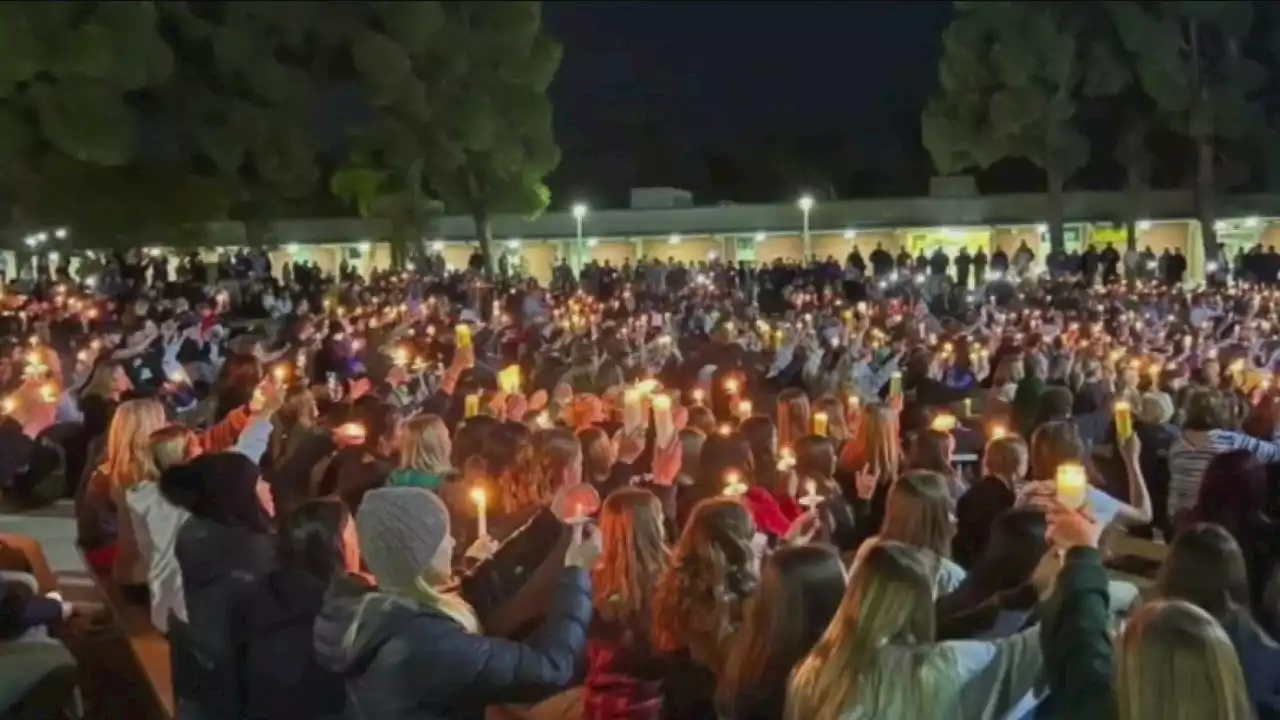
[[751, 514], [737, 498], [713, 497], [694, 507], [654, 594], [655, 648], [689, 650], [695, 662], [719, 669], [724, 638], [758, 582], [754, 536]]

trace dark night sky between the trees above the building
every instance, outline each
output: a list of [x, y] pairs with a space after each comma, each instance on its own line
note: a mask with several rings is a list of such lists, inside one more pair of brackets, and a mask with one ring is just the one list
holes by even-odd
[[[621, 204], [632, 184], [760, 200], [808, 178], [772, 172], [767, 156], [776, 152], [826, 164], [837, 195], [927, 182], [919, 111], [937, 82], [951, 3], [548, 1], [543, 9], [564, 46], [552, 88], [564, 155], [552, 178], [557, 205], [568, 193]], [[778, 150], [786, 143], [803, 149]]]

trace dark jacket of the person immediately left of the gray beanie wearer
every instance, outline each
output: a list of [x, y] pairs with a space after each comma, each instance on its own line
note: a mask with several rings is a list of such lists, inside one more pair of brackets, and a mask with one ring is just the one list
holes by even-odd
[[320, 669], [314, 628], [329, 584], [305, 570], [282, 568], [252, 589], [246, 610], [242, 687], [248, 720], [342, 717], [342, 678]]

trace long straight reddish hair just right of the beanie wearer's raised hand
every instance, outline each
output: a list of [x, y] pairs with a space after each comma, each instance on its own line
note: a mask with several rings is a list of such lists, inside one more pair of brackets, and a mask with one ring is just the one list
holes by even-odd
[[600, 507], [604, 550], [591, 571], [595, 612], [648, 639], [653, 596], [667, 569], [662, 503], [646, 489], [621, 488]]

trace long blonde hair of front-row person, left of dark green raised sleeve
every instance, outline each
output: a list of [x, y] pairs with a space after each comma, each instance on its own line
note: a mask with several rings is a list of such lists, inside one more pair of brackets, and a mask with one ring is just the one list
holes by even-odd
[[[867, 717], [890, 708], [901, 717], [938, 716], [945, 673], [929, 655], [934, 623], [924, 553], [886, 539], [865, 543], [836, 616], [791, 675], [785, 717], [841, 717], [856, 706]], [[904, 665], [882, 662], [890, 644], [910, 653]]]

